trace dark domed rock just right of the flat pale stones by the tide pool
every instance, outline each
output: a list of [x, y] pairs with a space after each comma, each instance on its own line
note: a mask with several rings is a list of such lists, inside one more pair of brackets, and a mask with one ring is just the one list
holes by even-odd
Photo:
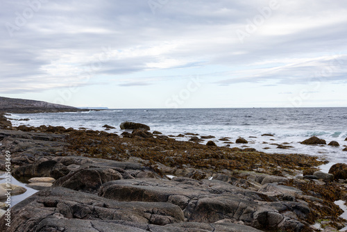
[[103, 183], [119, 179], [122, 179], [122, 176], [114, 169], [88, 168], [80, 169], [58, 179], [53, 186], [94, 193]]

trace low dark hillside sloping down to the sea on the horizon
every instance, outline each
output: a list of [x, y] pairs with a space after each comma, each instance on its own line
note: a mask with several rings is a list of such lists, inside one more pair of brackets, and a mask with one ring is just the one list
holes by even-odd
[[58, 105], [45, 101], [0, 97], [0, 113], [38, 113], [75, 110], [79, 109], [72, 106]]

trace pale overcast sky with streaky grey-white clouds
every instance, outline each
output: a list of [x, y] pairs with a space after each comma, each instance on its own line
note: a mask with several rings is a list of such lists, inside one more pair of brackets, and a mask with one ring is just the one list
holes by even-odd
[[1, 0], [0, 22], [1, 97], [347, 106], [346, 0]]

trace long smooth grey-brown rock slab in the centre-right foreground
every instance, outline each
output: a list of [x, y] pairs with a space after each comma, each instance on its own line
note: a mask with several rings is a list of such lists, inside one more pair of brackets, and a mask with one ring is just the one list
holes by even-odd
[[[264, 199], [268, 198], [264, 194], [237, 188], [214, 179], [196, 181], [176, 177], [172, 181], [158, 179], [111, 181], [101, 186], [99, 195], [117, 201], [169, 202], [183, 210], [188, 222], [213, 223], [236, 218], [257, 229], [282, 228], [282, 224], [271, 220], [273, 217], [271, 213], [276, 213], [277, 209], [269, 208], [268, 202], [265, 204]], [[281, 207], [288, 208], [282, 205]], [[281, 222], [287, 224], [289, 220], [283, 216]], [[300, 224], [298, 221], [294, 222], [295, 226]], [[294, 229], [295, 226], [289, 227]]]

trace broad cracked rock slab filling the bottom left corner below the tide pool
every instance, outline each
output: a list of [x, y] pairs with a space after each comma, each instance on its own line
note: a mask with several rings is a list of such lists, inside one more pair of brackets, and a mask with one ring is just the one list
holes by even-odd
[[49, 188], [13, 206], [11, 226], [0, 223], [0, 231], [137, 232], [180, 222], [184, 222], [183, 212], [174, 204], [119, 202], [67, 188]]

